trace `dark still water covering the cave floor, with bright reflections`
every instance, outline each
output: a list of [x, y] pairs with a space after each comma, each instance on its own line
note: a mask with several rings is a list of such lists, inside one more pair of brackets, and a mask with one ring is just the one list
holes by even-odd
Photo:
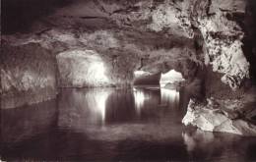
[[65, 88], [57, 99], [2, 110], [5, 160], [256, 161], [256, 138], [181, 124], [186, 93]]

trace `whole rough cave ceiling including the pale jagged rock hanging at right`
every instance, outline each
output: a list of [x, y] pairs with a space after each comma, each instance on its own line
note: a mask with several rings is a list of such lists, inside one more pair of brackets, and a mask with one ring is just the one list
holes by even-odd
[[246, 2], [24, 0], [17, 7], [17, 0], [4, 0], [2, 42], [36, 43], [55, 54], [86, 49], [107, 58], [127, 55], [138, 58], [136, 69], [154, 73], [173, 62], [210, 64], [224, 74], [224, 83], [236, 88], [249, 77], [240, 26]]

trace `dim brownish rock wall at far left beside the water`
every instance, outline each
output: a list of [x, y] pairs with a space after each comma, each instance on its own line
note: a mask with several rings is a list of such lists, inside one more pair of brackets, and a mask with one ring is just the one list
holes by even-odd
[[56, 62], [37, 44], [1, 47], [1, 108], [13, 108], [54, 98]]

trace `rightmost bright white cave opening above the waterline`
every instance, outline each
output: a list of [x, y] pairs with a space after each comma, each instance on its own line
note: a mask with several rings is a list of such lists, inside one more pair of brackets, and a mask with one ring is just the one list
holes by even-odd
[[174, 83], [175, 81], [184, 81], [181, 73], [175, 70], [170, 70], [165, 74], [160, 75], [160, 86], [165, 86], [166, 83]]

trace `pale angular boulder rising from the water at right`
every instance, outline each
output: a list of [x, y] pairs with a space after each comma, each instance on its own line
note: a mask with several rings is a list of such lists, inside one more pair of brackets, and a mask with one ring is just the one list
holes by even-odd
[[203, 131], [224, 132], [237, 135], [256, 135], [256, 126], [244, 119], [230, 119], [215, 101], [207, 105], [190, 100], [187, 114], [182, 120], [184, 125], [192, 125]]

